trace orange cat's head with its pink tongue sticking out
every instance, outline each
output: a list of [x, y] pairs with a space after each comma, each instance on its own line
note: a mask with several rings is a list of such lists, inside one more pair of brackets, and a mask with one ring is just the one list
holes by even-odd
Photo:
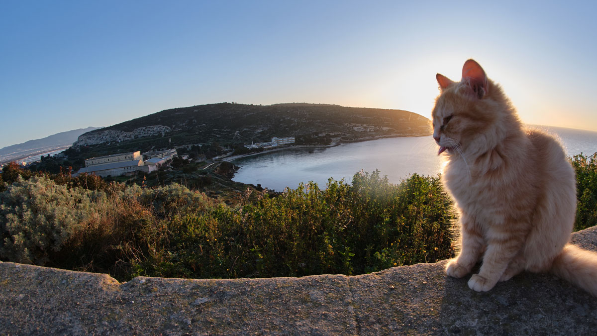
[[495, 146], [518, 117], [501, 90], [485, 75], [479, 63], [467, 60], [460, 82], [437, 74], [441, 94], [432, 111], [433, 138], [439, 145], [438, 155], [479, 152]]

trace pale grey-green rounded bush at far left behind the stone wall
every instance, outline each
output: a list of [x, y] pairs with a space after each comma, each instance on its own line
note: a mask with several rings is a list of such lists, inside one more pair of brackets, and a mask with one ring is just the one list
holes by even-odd
[[80, 188], [56, 185], [35, 176], [17, 180], [0, 193], [0, 258], [44, 265], [82, 222], [94, 213], [91, 198]]

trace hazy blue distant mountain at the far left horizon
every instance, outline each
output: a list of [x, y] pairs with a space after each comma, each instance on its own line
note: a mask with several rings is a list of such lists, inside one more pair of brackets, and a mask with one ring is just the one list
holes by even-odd
[[87, 127], [87, 129], [60, 132], [43, 139], [29, 140], [24, 143], [19, 143], [18, 145], [0, 148], [0, 162], [16, 160], [29, 155], [52, 151], [53, 149], [69, 147], [80, 135], [100, 128], [101, 127]]

